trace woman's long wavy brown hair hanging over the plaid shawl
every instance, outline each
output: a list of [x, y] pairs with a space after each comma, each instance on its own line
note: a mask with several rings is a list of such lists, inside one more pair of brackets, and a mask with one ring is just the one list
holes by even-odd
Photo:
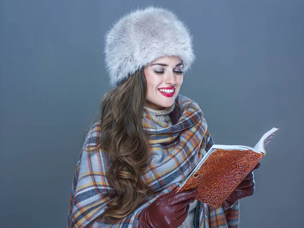
[[149, 192], [141, 179], [148, 160], [148, 138], [142, 128], [146, 79], [141, 68], [107, 92], [100, 104], [101, 148], [111, 157], [106, 178], [116, 195], [111, 196], [103, 216], [117, 220], [140, 206]]

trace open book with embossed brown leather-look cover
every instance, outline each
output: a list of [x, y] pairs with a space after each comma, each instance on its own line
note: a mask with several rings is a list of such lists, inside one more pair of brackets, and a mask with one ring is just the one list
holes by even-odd
[[265, 146], [279, 130], [272, 128], [254, 147], [212, 145], [177, 192], [197, 187], [196, 200], [218, 208], [264, 157]]

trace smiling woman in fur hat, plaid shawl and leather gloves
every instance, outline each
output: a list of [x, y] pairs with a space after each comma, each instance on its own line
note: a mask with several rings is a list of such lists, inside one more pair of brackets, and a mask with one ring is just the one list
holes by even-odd
[[251, 172], [218, 209], [176, 193], [212, 146], [203, 112], [178, 95], [194, 61], [192, 37], [170, 11], [148, 7], [106, 35], [110, 84], [81, 151], [68, 227], [238, 227]]

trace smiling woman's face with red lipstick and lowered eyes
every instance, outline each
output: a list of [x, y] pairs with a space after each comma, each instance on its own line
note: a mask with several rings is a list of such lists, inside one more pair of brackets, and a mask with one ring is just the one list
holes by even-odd
[[177, 56], [164, 56], [144, 67], [146, 107], [161, 110], [173, 105], [183, 80], [182, 67]]

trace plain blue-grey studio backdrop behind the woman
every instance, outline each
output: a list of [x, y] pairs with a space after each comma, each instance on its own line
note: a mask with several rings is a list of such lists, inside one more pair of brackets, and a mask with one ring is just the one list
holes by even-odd
[[84, 136], [110, 89], [104, 34], [148, 4], [194, 35], [180, 93], [218, 144], [280, 132], [241, 200], [240, 227], [303, 225], [303, 1], [0, 1], [1, 227], [65, 227]]

